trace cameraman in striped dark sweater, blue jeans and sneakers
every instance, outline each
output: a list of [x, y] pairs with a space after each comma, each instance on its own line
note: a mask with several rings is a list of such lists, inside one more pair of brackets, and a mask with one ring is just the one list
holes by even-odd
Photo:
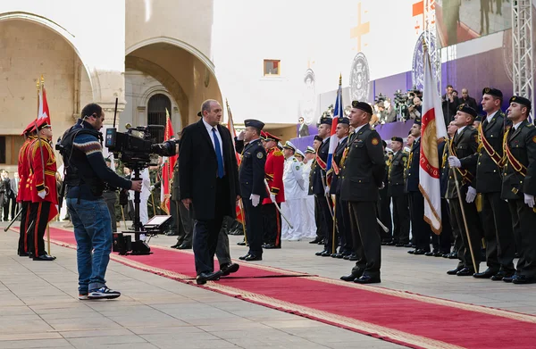
[[[76, 238], [79, 299], [113, 299], [121, 295], [106, 287], [105, 273], [112, 252], [112, 222], [103, 197], [105, 183], [140, 191], [141, 180], [123, 179], [106, 166], [103, 156], [105, 112], [88, 104], [81, 119], [62, 137], [67, 209]], [[93, 253], [91, 253], [93, 251]]]

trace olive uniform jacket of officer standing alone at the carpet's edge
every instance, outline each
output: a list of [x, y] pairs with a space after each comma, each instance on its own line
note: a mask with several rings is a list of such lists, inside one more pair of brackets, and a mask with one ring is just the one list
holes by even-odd
[[377, 202], [378, 187], [385, 177], [383, 146], [378, 132], [368, 123], [348, 139], [342, 167], [340, 198], [345, 201]]

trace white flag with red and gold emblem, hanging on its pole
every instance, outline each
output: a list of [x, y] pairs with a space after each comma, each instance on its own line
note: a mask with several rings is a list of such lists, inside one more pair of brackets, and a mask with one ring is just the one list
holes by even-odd
[[447, 137], [447, 128], [437, 92], [437, 81], [431, 71], [430, 55], [424, 50], [423, 119], [421, 126], [421, 158], [419, 190], [424, 196], [424, 220], [440, 235], [441, 189], [438, 139]]

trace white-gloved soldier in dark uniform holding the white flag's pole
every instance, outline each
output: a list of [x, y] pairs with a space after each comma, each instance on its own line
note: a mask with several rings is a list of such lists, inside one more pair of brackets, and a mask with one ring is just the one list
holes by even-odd
[[[458, 159], [464, 159], [477, 153], [478, 150], [478, 133], [473, 128], [473, 121], [476, 117], [476, 111], [468, 105], [460, 104], [454, 124], [458, 127], [456, 136], [450, 144], [448, 156], [448, 165], [450, 166], [450, 175], [448, 177], [447, 198], [450, 203], [450, 217], [457, 220], [457, 225], [461, 232], [462, 241], [464, 242], [463, 253], [461, 254], [462, 263], [453, 270], [448, 270], [448, 275], [472, 276], [478, 272], [479, 264], [482, 260], [481, 239], [482, 230], [479, 222], [476, 205], [471, 200], [469, 188], [473, 186], [474, 173], [476, 172], [475, 162], [465, 162], [460, 166]], [[456, 179], [459, 183], [460, 198], [457, 195]], [[463, 207], [460, 205], [460, 201]], [[462, 214], [465, 212], [465, 217]], [[467, 225], [465, 226], [465, 221]], [[467, 227], [468, 231], [466, 231]], [[471, 246], [469, 245], [471, 244]], [[473, 251], [474, 263], [471, 255]], [[463, 264], [463, 265], [462, 265]]]

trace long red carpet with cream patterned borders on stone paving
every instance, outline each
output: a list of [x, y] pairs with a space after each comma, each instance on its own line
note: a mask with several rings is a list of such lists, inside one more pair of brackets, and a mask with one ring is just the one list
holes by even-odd
[[[50, 230], [54, 243], [74, 245], [72, 232]], [[168, 278], [193, 281], [191, 252], [151, 248], [152, 255], [113, 253], [112, 259]], [[277, 278], [292, 275], [302, 277]], [[536, 317], [527, 314], [312, 275], [303, 277], [289, 270], [246, 263], [232, 276], [203, 287], [414, 348], [534, 348], [536, 345]]]

